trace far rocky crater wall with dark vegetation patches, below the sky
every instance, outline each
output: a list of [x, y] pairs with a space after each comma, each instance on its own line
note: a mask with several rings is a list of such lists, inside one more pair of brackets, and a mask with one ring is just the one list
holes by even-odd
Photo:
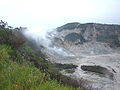
[[73, 22], [53, 32], [54, 44], [74, 54], [106, 54], [120, 47], [120, 25]]

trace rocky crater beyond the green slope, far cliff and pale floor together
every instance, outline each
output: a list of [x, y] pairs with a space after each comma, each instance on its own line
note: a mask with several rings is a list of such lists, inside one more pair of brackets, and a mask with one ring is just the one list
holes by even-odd
[[62, 74], [86, 79], [98, 90], [119, 90], [120, 25], [73, 22], [49, 32], [48, 37], [54, 50], [43, 50], [51, 62], [78, 66], [61, 70]]

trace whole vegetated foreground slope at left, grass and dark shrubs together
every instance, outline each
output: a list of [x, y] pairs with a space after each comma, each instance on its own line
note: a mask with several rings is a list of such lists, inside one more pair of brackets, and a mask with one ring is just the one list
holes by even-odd
[[0, 90], [80, 90], [25, 44], [20, 31], [0, 26]]

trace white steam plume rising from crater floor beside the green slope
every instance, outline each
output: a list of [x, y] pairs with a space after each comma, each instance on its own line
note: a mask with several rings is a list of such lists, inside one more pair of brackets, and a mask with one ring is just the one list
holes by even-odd
[[26, 30], [24, 32], [24, 35], [28, 39], [35, 40], [38, 46], [42, 45], [52, 53], [58, 54], [60, 56], [71, 56], [72, 54], [67, 53], [65, 50], [63, 50], [63, 48], [56, 47], [55, 45], [53, 45], [51, 40], [53, 39], [56, 33], [52, 31], [53, 30], [49, 30], [45, 27], [35, 27], [31, 28], [30, 30]]

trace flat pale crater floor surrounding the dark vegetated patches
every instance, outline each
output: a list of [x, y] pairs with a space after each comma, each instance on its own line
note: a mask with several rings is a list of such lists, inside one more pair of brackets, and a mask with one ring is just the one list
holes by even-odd
[[[120, 88], [119, 52], [100, 55], [80, 54], [79, 56], [53, 57], [50, 60], [55, 63], [78, 65], [74, 73], [67, 73], [64, 70], [62, 73], [76, 79], [86, 79], [94, 88], [98, 88], [99, 90], [119, 90]], [[82, 65], [105, 67], [113, 74], [113, 77], [111, 79], [109, 73], [108, 75], [102, 75], [95, 72], [83, 71], [81, 69]]]

